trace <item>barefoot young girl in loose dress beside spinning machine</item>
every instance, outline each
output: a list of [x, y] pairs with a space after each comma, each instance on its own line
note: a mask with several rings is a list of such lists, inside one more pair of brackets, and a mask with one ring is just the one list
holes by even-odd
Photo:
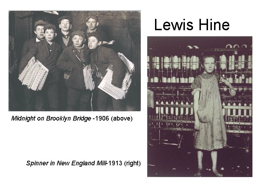
[[229, 87], [231, 96], [235, 95], [235, 90], [229, 81], [214, 73], [214, 55], [204, 55], [202, 60], [204, 72], [198, 75], [191, 85], [194, 95], [194, 148], [198, 150], [198, 171], [194, 176], [201, 177], [203, 150], [207, 150], [211, 151], [213, 173], [222, 177], [217, 171], [217, 149], [226, 146], [226, 129], [218, 82], [223, 82]]

